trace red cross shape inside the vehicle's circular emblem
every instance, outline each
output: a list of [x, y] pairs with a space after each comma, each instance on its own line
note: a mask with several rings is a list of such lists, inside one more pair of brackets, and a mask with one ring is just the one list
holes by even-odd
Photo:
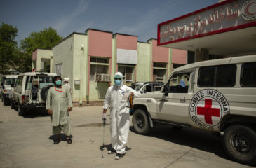
[[220, 109], [212, 108], [212, 99], [205, 99], [205, 106], [197, 107], [197, 114], [204, 115], [206, 124], [213, 124], [212, 116], [220, 117]]

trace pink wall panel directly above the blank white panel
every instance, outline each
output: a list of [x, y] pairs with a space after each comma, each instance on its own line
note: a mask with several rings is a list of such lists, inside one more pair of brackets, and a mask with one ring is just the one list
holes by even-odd
[[124, 36], [116, 34], [116, 48], [137, 50], [137, 36]]

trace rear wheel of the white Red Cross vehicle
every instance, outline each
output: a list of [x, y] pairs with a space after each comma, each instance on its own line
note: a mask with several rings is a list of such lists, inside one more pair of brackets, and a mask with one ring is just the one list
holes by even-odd
[[246, 165], [256, 164], [256, 132], [244, 125], [224, 130], [224, 149], [230, 158]]

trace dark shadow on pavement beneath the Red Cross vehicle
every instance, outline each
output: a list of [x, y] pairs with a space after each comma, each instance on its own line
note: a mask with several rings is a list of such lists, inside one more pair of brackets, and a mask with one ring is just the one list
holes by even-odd
[[[130, 126], [130, 131], [135, 132], [133, 126]], [[189, 146], [201, 151], [214, 153], [221, 158], [230, 160], [224, 152], [222, 138], [217, 137], [212, 132], [196, 130], [193, 128], [177, 129], [171, 126], [158, 126], [151, 129], [148, 136], [170, 141], [182, 146]]]

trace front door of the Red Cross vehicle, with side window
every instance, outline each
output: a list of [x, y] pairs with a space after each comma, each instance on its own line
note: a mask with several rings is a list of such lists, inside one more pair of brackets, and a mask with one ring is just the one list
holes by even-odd
[[157, 99], [160, 120], [189, 123], [189, 78], [190, 72], [175, 73], [164, 85]]

